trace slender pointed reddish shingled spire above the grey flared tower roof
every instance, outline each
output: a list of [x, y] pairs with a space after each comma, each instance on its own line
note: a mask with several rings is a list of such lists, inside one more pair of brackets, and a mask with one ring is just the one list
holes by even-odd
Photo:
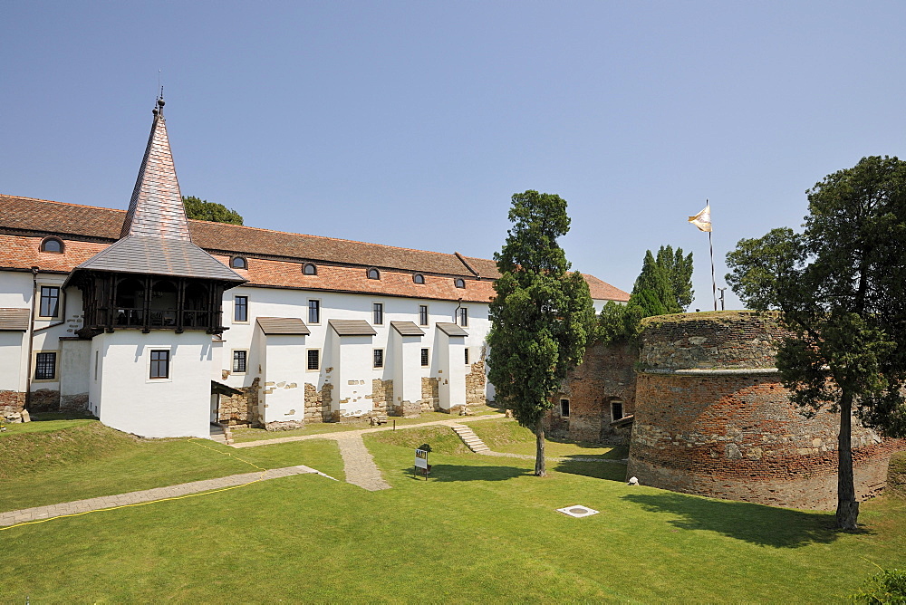
[[148, 147], [141, 160], [139, 178], [135, 181], [120, 237], [141, 235], [191, 242], [186, 208], [182, 204], [176, 167], [169, 149], [162, 96], [153, 113]]

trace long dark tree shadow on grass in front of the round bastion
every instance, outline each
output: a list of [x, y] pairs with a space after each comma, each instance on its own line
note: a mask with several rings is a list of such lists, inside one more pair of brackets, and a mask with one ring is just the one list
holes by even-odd
[[[651, 513], [680, 515], [682, 518], [668, 522], [677, 530], [716, 532], [762, 546], [799, 548], [814, 543], [833, 543], [840, 535], [834, 527], [834, 514], [830, 513], [712, 500], [675, 492], [631, 494], [622, 498]], [[860, 530], [860, 533], [871, 532]]]

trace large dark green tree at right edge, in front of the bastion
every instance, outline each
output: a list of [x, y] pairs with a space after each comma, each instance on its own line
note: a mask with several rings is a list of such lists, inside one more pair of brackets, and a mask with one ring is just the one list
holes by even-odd
[[777, 368], [791, 399], [839, 412], [836, 521], [854, 529], [853, 409], [906, 435], [906, 162], [863, 158], [806, 193], [803, 232], [740, 241], [727, 281], [749, 307], [781, 312], [791, 334]]

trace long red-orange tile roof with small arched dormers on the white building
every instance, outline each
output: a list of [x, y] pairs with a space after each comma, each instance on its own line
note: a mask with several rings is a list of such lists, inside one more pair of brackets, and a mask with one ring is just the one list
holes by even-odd
[[[119, 239], [125, 216], [112, 208], [0, 195], [0, 268], [70, 272]], [[192, 241], [223, 264], [231, 255], [246, 256], [248, 269], [235, 271], [249, 285], [487, 303], [498, 276], [494, 261], [471, 256], [206, 221], [190, 220], [189, 229]], [[63, 238], [64, 253], [40, 252], [45, 235]], [[306, 262], [317, 265], [317, 275], [302, 274]], [[371, 266], [381, 269], [380, 280], [367, 278]], [[415, 273], [425, 275], [424, 284], [412, 281]], [[465, 289], [455, 287], [455, 276], [465, 279]], [[629, 300], [592, 275], [585, 279], [594, 299]]]

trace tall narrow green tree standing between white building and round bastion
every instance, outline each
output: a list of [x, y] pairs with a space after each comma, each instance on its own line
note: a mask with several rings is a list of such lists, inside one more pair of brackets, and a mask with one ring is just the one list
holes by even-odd
[[566, 373], [582, 361], [594, 333], [588, 283], [570, 272], [557, 238], [569, 231], [563, 198], [537, 191], [513, 196], [513, 227], [494, 254], [500, 279], [490, 305], [488, 378], [519, 424], [535, 432], [535, 475], [545, 476], [542, 418]]

